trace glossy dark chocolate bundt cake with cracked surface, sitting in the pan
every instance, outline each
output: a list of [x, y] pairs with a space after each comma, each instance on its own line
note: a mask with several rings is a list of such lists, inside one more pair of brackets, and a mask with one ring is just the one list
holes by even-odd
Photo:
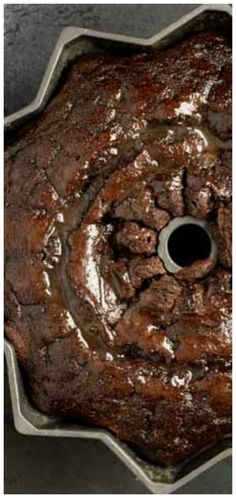
[[[5, 154], [6, 335], [42, 412], [183, 461], [231, 431], [231, 48], [90, 54]], [[168, 274], [158, 234], [208, 221]]]

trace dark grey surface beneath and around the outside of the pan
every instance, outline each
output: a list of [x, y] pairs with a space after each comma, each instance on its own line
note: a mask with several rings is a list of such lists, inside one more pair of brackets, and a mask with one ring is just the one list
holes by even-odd
[[[35, 96], [65, 26], [149, 37], [195, 5], [5, 5], [5, 114]], [[148, 493], [102, 443], [21, 436], [5, 389], [5, 493]], [[231, 493], [231, 460], [177, 493]]]

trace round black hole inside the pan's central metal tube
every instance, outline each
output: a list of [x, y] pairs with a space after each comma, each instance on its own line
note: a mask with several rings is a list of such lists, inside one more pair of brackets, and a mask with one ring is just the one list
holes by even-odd
[[211, 239], [207, 231], [194, 223], [177, 227], [168, 240], [169, 255], [179, 266], [206, 259], [211, 253]]

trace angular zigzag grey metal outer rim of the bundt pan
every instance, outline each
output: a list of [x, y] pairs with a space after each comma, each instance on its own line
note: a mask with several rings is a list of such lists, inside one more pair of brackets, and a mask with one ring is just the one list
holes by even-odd
[[[7, 116], [8, 133], [38, 114], [50, 99], [63, 69], [81, 54], [109, 50], [159, 50], [173, 44], [189, 32], [231, 27], [232, 9], [228, 5], [203, 5], [182, 17], [170, 27], [148, 39], [113, 35], [68, 27], [64, 29], [49, 60], [38, 93], [33, 102], [20, 111]], [[5, 355], [10, 384], [15, 428], [31, 436], [55, 436], [98, 439], [105, 443], [143, 484], [155, 494], [173, 493], [199, 474], [231, 454], [231, 439], [226, 437], [219, 444], [205, 448], [194, 458], [181, 465], [162, 467], [150, 464], [136, 455], [126, 444], [110, 432], [85, 426], [67, 424], [37, 411], [27, 399], [22, 375], [13, 346], [5, 341]]]

